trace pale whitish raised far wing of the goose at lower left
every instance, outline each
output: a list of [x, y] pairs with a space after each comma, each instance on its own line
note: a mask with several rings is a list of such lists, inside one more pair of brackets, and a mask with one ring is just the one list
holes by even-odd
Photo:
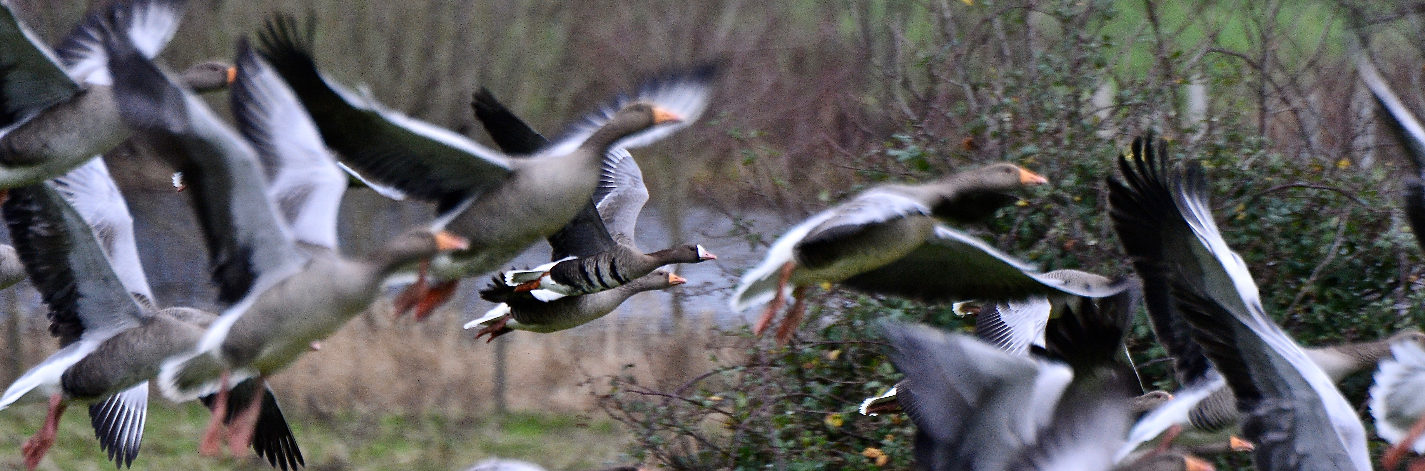
[[148, 286], [148, 277], [144, 276], [144, 265], [138, 259], [138, 245], [134, 240], [134, 216], [128, 212], [124, 195], [114, 185], [114, 178], [108, 175], [104, 159], [95, 157], [88, 164], [56, 178], [54, 189], [88, 223], [124, 287], [152, 302], [154, 292]]

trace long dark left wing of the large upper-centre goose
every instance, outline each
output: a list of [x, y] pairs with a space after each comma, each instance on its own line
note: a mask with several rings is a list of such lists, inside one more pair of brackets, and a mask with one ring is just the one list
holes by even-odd
[[326, 145], [362, 175], [430, 201], [473, 196], [510, 175], [503, 154], [322, 77], [311, 55], [311, 26], [305, 34], [298, 30], [294, 17], [268, 20], [259, 53], [292, 87]]

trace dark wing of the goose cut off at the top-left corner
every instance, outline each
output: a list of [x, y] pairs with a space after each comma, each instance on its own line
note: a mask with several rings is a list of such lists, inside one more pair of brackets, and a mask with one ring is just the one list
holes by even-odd
[[78, 91], [58, 57], [16, 17], [14, 1], [0, 1], [0, 128]]

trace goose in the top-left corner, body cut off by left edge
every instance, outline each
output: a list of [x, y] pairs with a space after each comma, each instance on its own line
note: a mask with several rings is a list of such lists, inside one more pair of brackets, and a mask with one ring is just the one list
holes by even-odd
[[[154, 57], [177, 31], [184, 6], [182, 0], [115, 3], [50, 51], [10, 3], [0, 3], [0, 189], [58, 176], [128, 138], [98, 41], [103, 24], [117, 18], [135, 47]], [[231, 73], [225, 64], [204, 63], [184, 78], [211, 90], [231, 81]]]

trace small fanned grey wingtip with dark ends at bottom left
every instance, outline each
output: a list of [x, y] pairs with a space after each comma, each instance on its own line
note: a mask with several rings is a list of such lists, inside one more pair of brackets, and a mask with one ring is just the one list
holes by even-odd
[[148, 381], [90, 406], [90, 425], [98, 448], [120, 468], [131, 467], [144, 441], [148, 420]]

